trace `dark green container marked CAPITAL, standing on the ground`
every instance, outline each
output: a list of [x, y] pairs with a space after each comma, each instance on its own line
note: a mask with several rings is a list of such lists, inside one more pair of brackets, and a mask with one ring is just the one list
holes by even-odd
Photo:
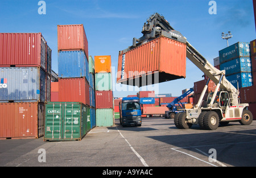
[[81, 140], [89, 131], [88, 110], [81, 102], [47, 102], [44, 141]]

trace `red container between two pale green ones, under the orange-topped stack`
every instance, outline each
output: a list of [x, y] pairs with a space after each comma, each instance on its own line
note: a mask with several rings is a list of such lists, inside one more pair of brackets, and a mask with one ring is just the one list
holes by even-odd
[[113, 108], [113, 91], [95, 91], [96, 109]]

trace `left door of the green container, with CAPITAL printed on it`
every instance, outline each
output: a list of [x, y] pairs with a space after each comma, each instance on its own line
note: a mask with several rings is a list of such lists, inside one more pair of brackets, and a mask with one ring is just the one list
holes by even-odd
[[44, 139], [59, 140], [61, 139], [62, 129], [62, 110], [61, 103], [53, 103], [46, 105], [46, 124]]

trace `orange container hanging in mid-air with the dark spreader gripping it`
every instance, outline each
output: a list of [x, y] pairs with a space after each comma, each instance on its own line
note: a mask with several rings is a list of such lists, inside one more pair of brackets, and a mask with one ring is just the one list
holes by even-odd
[[[150, 31], [153, 23], [155, 26]], [[185, 78], [183, 35], [157, 13], [144, 24], [142, 34], [141, 38], [133, 39], [132, 46], [119, 51], [117, 83], [140, 87]]]

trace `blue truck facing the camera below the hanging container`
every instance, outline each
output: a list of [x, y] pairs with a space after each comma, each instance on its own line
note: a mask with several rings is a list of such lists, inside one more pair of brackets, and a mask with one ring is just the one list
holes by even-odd
[[138, 97], [123, 97], [119, 102], [119, 121], [120, 125], [141, 126], [141, 104]]

